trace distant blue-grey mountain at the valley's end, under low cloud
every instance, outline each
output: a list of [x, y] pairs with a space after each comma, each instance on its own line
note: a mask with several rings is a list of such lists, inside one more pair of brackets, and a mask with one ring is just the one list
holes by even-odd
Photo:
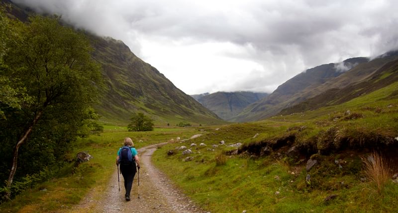
[[266, 97], [267, 93], [216, 92], [193, 95], [200, 104], [216, 113], [224, 120], [230, 120], [246, 106]]

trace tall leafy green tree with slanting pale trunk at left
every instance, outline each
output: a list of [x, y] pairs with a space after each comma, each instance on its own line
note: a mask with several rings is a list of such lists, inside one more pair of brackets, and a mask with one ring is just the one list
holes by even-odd
[[2, 125], [10, 130], [1, 137], [17, 141], [8, 188], [17, 169], [19, 148], [39, 133], [49, 134], [47, 139], [41, 135], [41, 146], [45, 146], [43, 141], [77, 137], [84, 120], [90, 119], [87, 109], [96, 100], [101, 85], [100, 66], [90, 55], [93, 49], [89, 41], [83, 33], [60, 25], [59, 17], [31, 17], [14, 33], [21, 39], [7, 44], [0, 71], [0, 80], [8, 78], [7, 87], [14, 88], [13, 96], [18, 97], [20, 106], [0, 103], [7, 120]]

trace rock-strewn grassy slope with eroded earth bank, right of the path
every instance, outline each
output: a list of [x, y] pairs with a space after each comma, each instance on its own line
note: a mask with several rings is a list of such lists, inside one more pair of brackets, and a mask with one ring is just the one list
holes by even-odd
[[[398, 172], [397, 88], [393, 84], [339, 106], [203, 128], [205, 135], [185, 144], [166, 145], [155, 152], [153, 160], [212, 213], [396, 212], [398, 183], [391, 177]], [[263, 157], [250, 152], [255, 146], [282, 142], [286, 143]], [[192, 147], [191, 155], [176, 149], [191, 143], [198, 145]], [[236, 143], [246, 149], [240, 148], [240, 155], [226, 155], [236, 149], [228, 145]], [[293, 146], [299, 149], [298, 155], [287, 155]], [[168, 150], [177, 154], [168, 156]], [[389, 162], [390, 178], [381, 193], [366, 178], [363, 167], [373, 150]], [[188, 156], [191, 159], [186, 160]], [[306, 171], [310, 158], [318, 163]], [[327, 200], [328, 196], [333, 199]]]

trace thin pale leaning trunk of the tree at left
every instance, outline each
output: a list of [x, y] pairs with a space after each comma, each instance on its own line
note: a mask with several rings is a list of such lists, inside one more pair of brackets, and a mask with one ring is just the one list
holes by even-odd
[[8, 181], [7, 181], [8, 190], [7, 190], [7, 193], [5, 195], [6, 198], [8, 198], [8, 199], [10, 199], [10, 197], [11, 197], [11, 184], [12, 184], [12, 181], [14, 179], [15, 172], [16, 172], [16, 166], [17, 166], [17, 162], [18, 162], [18, 150], [19, 150], [19, 147], [26, 142], [26, 139], [28, 138], [28, 136], [32, 132], [33, 126], [37, 123], [37, 121], [39, 120], [41, 114], [42, 114], [42, 111], [37, 112], [35, 118], [33, 119], [32, 124], [25, 131], [25, 134], [23, 134], [22, 138], [19, 139], [18, 143], [14, 147], [14, 154], [12, 156], [12, 166], [11, 166], [11, 170], [9, 172]]

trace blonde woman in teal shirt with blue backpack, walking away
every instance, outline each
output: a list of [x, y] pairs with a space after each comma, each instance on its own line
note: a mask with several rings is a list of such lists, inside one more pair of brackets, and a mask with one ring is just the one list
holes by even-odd
[[[120, 164], [120, 172], [123, 175], [124, 179], [126, 201], [130, 200], [130, 191], [133, 185], [135, 173], [137, 172], [137, 169], [135, 168], [135, 163], [137, 163], [137, 168], [140, 169], [140, 160], [138, 158], [138, 153], [133, 146], [134, 144], [131, 138], [125, 138], [124, 147], [121, 147], [119, 151], [117, 151], [116, 157], [116, 165]], [[128, 148], [130, 149], [131, 154], [128, 153]], [[130, 155], [130, 159], [126, 159], [128, 155]]]

